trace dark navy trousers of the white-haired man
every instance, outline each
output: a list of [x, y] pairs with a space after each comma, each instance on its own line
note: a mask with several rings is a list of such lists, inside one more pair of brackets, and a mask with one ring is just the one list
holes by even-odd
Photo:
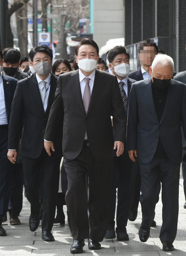
[[180, 163], [168, 158], [154, 157], [149, 163], [139, 163], [141, 171], [140, 203], [142, 223], [150, 227], [155, 216], [155, 205], [159, 201], [162, 184], [162, 227], [160, 240], [174, 242], [178, 224], [178, 195]]

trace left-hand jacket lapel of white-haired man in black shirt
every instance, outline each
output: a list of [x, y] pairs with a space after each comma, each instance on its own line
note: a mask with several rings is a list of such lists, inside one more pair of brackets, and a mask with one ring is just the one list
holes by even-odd
[[155, 121], [159, 123], [152, 95], [151, 77], [149, 79], [144, 80], [144, 84], [142, 85], [141, 88], [144, 95], [144, 102], [146, 102], [147, 105], [147, 109], [149, 109], [152, 116], [155, 118]]

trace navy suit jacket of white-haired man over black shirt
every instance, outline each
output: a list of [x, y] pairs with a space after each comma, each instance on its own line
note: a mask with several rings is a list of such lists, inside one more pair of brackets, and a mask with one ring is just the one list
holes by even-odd
[[138, 161], [152, 160], [158, 139], [169, 159], [182, 160], [182, 136], [186, 137], [186, 89], [185, 84], [171, 79], [167, 102], [160, 122], [153, 102], [151, 78], [133, 83], [130, 90], [127, 120], [127, 150], [137, 150]]

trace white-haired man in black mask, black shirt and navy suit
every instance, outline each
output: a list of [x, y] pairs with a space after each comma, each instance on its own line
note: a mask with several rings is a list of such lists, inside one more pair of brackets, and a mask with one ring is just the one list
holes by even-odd
[[171, 80], [174, 62], [157, 55], [150, 67], [151, 78], [132, 85], [127, 120], [127, 150], [132, 161], [138, 158], [141, 172], [140, 241], [146, 242], [155, 215], [162, 184], [162, 227], [164, 251], [174, 250], [178, 224], [178, 194], [182, 136], [186, 137], [185, 84]]

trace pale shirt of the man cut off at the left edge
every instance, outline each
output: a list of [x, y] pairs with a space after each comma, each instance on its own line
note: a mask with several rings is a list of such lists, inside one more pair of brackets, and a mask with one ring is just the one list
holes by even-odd
[[5, 95], [3, 87], [3, 78], [0, 74], [0, 125], [8, 124], [5, 108]]

